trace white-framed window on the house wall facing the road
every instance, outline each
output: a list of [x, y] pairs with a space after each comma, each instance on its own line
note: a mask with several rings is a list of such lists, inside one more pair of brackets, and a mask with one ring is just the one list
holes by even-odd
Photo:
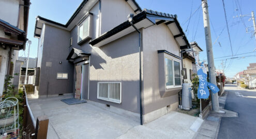
[[[172, 70], [173, 70], [173, 85], [166, 85], [166, 71], [165, 71], [165, 58], [169, 59], [169, 60], [172, 60]], [[179, 63], [179, 78], [180, 78], [180, 85], [175, 85], [175, 70], [174, 70], [174, 61], [178, 62]], [[180, 62], [177, 61], [177, 60], [174, 60], [172, 58], [169, 58], [169, 57], [164, 57], [164, 83], [165, 83], [165, 89], [172, 89], [172, 88], [180, 88], [182, 87], [182, 74], [180, 72]]]

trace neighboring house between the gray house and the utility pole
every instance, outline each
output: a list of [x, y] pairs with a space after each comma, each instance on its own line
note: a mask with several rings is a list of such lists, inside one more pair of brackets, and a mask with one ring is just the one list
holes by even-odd
[[[197, 74], [197, 67], [195, 66], [195, 55], [198, 55], [199, 53], [203, 51], [199, 46], [197, 42], [191, 42], [191, 49], [185, 50], [183, 53], [183, 70], [184, 70], [184, 82], [192, 83], [192, 75]], [[199, 59], [198, 59], [199, 63]]]

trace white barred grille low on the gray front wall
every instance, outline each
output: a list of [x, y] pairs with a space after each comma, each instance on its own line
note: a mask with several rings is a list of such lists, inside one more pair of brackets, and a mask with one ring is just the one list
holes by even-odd
[[98, 82], [97, 98], [115, 103], [122, 102], [121, 82]]

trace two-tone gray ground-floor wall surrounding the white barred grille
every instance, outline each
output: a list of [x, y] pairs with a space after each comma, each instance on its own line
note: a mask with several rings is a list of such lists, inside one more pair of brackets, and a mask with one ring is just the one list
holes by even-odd
[[[70, 37], [73, 38], [73, 45], [69, 50], [74, 47], [91, 53], [89, 100], [139, 113], [138, 33], [130, 33], [99, 48], [91, 47], [88, 44], [89, 41], [78, 45], [77, 27], [71, 30]], [[76, 78], [76, 72], [73, 77]], [[122, 103], [97, 99], [98, 82], [122, 82]], [[84, 96], [87, 97], [87, 94]]]

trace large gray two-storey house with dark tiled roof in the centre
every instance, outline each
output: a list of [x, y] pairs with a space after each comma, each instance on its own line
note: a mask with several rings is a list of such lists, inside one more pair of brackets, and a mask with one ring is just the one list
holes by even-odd
[[65, 25], [37, 16], [34, 36], [39, 97], [73, 94], [143, 123], [178, 107], [180, 52], [190, 44], [176, 15], [84, 0]]

